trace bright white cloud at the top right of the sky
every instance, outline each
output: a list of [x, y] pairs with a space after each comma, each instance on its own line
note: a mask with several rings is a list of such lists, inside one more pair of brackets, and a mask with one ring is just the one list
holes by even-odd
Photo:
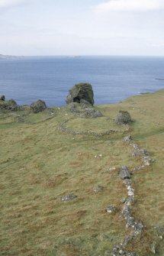
[[108, 11], [156, 11], [164, 8], [163, 0], [111, 0], [95, 5], [93, 10], [98, 13]]

